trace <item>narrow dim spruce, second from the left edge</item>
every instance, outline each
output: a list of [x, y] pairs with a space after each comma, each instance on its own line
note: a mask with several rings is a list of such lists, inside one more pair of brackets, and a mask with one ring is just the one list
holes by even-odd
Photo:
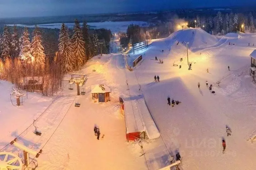
[[19, 45], [19, 34], [16, 25], [13, 27], [13, 33], [11, 35], [11, 56], [12, 58], [16, 58], [20, 53], [20, 45]]

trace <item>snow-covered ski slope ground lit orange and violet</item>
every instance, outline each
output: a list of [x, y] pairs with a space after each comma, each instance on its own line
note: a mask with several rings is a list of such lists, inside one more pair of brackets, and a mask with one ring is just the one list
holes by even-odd
[[[79, 71], [88, 75], [84, 87], [86, 95], [75, 98], [75, 90], [69, 91], [69, 85], [65, 87], [63, 96], [61, 94], [36, 122], [42, 137], [35, 136], [32, 127], [19, 140], [26, 146], [41, 149], [68, 111], [38, 158], [38, 169], [155, 170], [169, 165], [171, 155], [180, 152], [181, 169], [246, 167], [253, 170], [256, 144], [246, 139], [256, 133], [256, 86], [249, 77], [249, 54], [254, 47], [248, 43], [255, 42], [256, 34], [240, 33], [239, 38], [234, 37], [227, 35], [217, 39], [192, 28], [176, 32], [168, 38], [153, 40], [143, 52], [143, 61], [133, 71], [125, 69], [125, 59], [120, 54], [95, 57]], [[188, 70], [186, 47], [181, 40], [191, 44], [192, 70]], [[229, 42], [235, 45], [229, 46]], [[118, 46], [118, 42], [114, 44]], [[128, 64], [139, 55], [130, 54]], [[155, 56], [163, 59], [164, 64], [155, 61]], [[181, 69], [173, 66], [174, 62], [181, 65]], [[159, 83], [153, 82], [155, 75], [159, 75]], [[131, 98], [138, 94], [144, 96], [161, 134], [157, 139], [142, 142], [144, 156], [140, 156], [142, 150], [138, 143], [125, 141], [125, 120], [118, 99], [119, 96], [129, 97], [126, 80]], [[215, 94], [205, 87], [206, 80], [213, 84]], [[216, 85], [217, 81], [221, 81], [220, 86]], [[100, 83], [112, 88], [108, 103], [93, 103], [91, 99], [90, 86]], [[139, 85], [142, 91], [138, 91]], [[1, 146], [31, 124], [54, 99], [29, 93], [23, 106], [15, 107], [9, 100], [10, 87], [10, 83], [1, 81]], [[168, 96], [181, 103], [174, 107], [167, 105]], [[73, 101], [81, 106], [74, 107]], [[101, 135], [105, 134], [100, 141], [93, 136], [95, 124]], [[232, 130], [230, 137], [226, 136], [226, 125]], [[225, 154], [222, 154], [222, 138], [227, 144]], [[8, 149], [17, 152], [10, 146]]]

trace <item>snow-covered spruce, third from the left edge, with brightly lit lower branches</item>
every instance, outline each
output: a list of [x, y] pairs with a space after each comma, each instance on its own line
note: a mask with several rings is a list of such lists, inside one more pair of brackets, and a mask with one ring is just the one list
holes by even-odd
[[28, 64], [33, 63], [34, 57], [31, 55], [31, 43], [30, 43], [29, 31], [27, 27], [24, 28], [24, 31], [20, 40], [21, 40], [20, 58], [22, 59], [23, 62], [26, 62]]

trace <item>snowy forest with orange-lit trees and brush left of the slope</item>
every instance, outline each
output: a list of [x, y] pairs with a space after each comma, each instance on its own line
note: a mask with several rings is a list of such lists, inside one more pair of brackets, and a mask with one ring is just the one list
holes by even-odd
[[[0, 79], [17, 88], [53, 95], [63, 75], [79, 70], [93, 56], [109, 53], [110, 30], [90, 29], [86, 22], [73, 29], [4, 26], [0, 38]], [[101, 50], [100, 50], [101, 49]]]

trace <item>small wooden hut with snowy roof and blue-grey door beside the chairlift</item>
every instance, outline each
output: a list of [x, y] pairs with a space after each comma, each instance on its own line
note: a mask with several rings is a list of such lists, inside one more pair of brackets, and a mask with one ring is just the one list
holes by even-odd
[[104, 84], [97, 84], [91, 86], [91, 94], [94, 102], [110, 101], [111, 88]]

